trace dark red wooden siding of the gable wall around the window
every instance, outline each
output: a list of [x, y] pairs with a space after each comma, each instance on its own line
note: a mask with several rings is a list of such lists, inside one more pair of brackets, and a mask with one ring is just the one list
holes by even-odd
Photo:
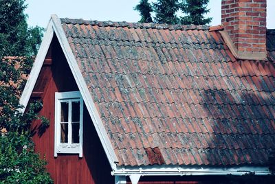
[[79, 158], [78, 154], [58, 154], [54, 158], [54, 93], [64, 91], [78, 91], [78, 87], [54, 36], [31, 99], [43, 100], [40, 115], [50, 119], [50, 127], [45, 131], [41, 130], [40, 121], [32, 124], [36, 151], [40, 152], [41, 157], [45, 155], [47, 170], [54, 183], [114, 183], [111, 166], [86, 107], [83, 119], [83, 158]]

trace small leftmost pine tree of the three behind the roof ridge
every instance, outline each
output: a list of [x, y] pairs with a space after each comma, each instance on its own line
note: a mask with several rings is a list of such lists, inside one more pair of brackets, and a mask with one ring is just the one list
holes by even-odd
[[148, 0], [140, 0], [140, 3], [136, 5], [133, 10], [140, 12], [140, 23], [151, 23], [153, 22], [151, 12], [153, 12], [152, 6], [148, 3]]

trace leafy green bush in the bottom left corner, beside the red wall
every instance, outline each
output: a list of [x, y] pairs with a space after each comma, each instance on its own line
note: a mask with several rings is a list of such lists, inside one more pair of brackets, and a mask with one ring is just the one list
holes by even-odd
[[0, 183], [52, 183], [28, 132], [5, 133], [0, 144]]

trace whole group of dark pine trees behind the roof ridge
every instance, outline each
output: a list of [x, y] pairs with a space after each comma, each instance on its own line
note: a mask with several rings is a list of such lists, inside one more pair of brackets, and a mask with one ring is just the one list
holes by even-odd
[[[208, 2], [209, 0], [157, 0], [151, 5], [148, 0], [141, 0], [134, 10], [140, 12], [141, 23], [152, 22], [151, 12], [153, 12], [155, 23], [205, 25], [212, 20], [203, 17], [203, 14], [209, 12]], [[179, 17], [177, 15], [179, 12], [186, 16]]]

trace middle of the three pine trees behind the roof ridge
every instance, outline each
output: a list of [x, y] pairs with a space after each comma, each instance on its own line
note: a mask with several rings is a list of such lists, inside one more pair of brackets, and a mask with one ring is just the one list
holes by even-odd
[[168, 24], [179, 23], [179, 18], [176, 14], [177, 10], [179, 10], [178, 0], [157, 0], [156, 3], [153, 3], [153, 10], [155, 12], [155, 22]]

